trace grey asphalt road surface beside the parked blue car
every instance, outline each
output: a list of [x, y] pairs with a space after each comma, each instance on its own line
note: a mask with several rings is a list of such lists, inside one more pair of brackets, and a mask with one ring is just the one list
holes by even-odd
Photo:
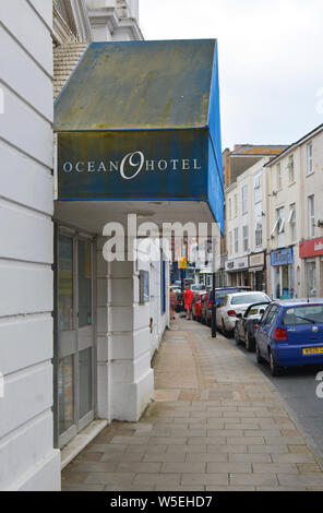
[[[234, 338], [230, 342], [236, 345]], [[239, 349], [274, 383], [304, 431], [310, 434], [323, 454], [323, 398], [316, 396], [319, 381], [315, 380], [323, 367], [288, 369], [284, 375], [273, 378], [266, 363], [256, 362], [254, 353], [248, 353], [243, 345], [240, 345]]]

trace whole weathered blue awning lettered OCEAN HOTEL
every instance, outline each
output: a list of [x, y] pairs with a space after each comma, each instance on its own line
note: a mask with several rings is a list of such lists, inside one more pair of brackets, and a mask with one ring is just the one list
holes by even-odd
[[223, 231], [216, 40], [91, 44], [55, 132], [59, 201], [203, 203]]

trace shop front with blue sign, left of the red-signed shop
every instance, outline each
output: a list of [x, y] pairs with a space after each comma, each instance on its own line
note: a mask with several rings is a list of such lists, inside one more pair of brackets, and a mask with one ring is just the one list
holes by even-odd
[[271, 295], [274, 299], [296, 296], [292, 247], [271, 252]]

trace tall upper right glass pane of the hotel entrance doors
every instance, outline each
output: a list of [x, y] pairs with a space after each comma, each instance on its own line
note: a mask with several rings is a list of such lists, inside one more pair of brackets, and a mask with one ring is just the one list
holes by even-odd
[[79, 326], [92, 324], [92, 244], [79, 240]]

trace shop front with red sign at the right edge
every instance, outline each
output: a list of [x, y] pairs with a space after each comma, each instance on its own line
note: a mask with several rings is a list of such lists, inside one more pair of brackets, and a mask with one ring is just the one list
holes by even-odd
[[302, 296], [316, 298], [323, 296], [323, 237], [306, 240], [299, 244], [302, 262]]

